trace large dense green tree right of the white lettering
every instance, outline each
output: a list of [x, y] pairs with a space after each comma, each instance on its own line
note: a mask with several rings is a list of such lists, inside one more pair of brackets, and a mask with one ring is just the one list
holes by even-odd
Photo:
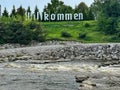
[[95, 0], [97, 12], [98, 30], [105, 34], [115, 34], [118, 32], [118, 22], [120, 16], [120, 0]]

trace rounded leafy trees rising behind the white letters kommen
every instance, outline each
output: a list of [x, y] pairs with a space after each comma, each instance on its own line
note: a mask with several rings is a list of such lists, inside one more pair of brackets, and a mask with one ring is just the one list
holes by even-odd
[[78, 3], [75, 9], [73, 9], [71, 6], [65, 5], [63, 1], [51, 0], [51, 3], [48, 3], [48, 5], [44, 7], [43, 11], [48, 14], [83, 13], [84, 20], [94, 20], [94, 14], [91, 7], [88, 7], [84, 2]]

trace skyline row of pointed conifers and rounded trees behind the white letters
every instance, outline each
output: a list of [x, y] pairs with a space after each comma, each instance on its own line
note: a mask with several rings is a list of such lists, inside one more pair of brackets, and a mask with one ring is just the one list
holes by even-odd
[[[63, 1], [59, 0], [51, 0], [50, 3], [48, 3], [44, 9], [43, 12], [46, 12], [48, 14], [57, 14], [57, 13], [83, 13], [84, 20], [93, 20], [94, 14], [92, 12], [92, 8], [88, 7], [84, 2], [80, 2], [75, 8], [73, 9], [71, 6], [65, 5]], [[15, 8], [13, 6], [12, 11], [8, 13], [7, 9], [5, 8], [2, 13], [3, 17], [19, 17], [21, 16], [24, 20], [25, 17], [32, 20], [39, 20], [40, 21], [40, 12], [38, 7], [36, 6], [34, 9], [34, 12], [32, 13], [32, 10], [30, 6], [28, 6], [27, 9], [20, 6], [19, 8]]]

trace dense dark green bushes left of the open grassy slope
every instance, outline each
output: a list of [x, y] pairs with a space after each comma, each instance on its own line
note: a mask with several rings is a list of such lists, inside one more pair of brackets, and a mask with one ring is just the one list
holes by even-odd
[[0, 20], [0, 44], [29, 44], [31, 41], [45, 41], [45, 32], [39, 22], [3, 18]]

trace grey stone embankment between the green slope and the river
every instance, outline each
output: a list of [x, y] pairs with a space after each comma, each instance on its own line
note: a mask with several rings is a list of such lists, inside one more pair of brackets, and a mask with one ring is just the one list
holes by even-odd
[[15, 60], [120, 60], [120, 44], [59, 44], [1, 49], [0, 62]]

